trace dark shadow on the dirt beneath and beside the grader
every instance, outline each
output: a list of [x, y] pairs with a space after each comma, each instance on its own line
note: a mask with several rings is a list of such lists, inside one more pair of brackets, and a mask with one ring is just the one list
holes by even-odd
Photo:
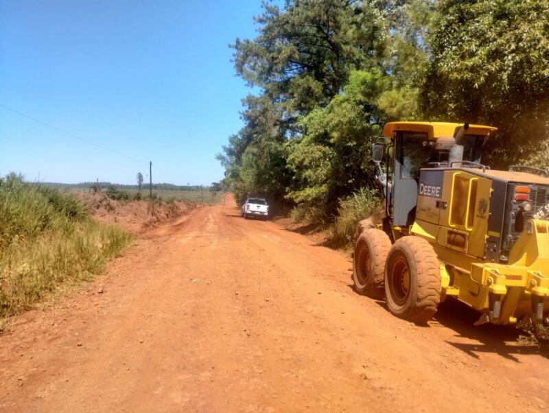
[[[355, 294], [360, 294], [352, 283], [348, 286]], [[364, 298], [373, 300], [373, 298]], [[374, 301], [387, 312], [389, 311], [385, 300]], [[456, 340], [445, 341], [475, 359], [479, 359], [481, 353], [498, 354], [516, 363], [520, 362], [517, 355], [541, 355], [549, 359], [548, 346], [538, 347], [533, 344], [522, 344], [519, 341], [519, 337], [527, 335], [527, 333], [518, 327], [491, 324], [475, 326], [474, 322], [478, 320], [479, 316], [480, 314], [474, 309], [458, 300], [449, 298], [439, 306], [439, 311], [430, 322], [417, 324], [417, 326], [426, 329], [447, 327], [454, 331]], [[464, 342], [464, 339], [468, 342]]]

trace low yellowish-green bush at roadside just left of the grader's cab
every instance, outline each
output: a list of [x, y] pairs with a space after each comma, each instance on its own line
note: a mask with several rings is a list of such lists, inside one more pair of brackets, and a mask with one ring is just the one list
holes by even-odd
[[380, 213], [382, 196], [375, 189], [361, 188], [353, 195], [340, 199], [338, 216], [328, 231], [329, 241], [341, 246], [352, 244], [358, 222]]

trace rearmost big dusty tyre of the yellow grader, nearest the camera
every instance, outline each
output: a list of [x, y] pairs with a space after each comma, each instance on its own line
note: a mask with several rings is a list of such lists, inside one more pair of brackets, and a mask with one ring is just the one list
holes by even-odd
[[390, 248], [385, 266], [389, 311], [412, 322], [427, 322], [441, 301], [441, 268], [427, 240], [408, 236]]

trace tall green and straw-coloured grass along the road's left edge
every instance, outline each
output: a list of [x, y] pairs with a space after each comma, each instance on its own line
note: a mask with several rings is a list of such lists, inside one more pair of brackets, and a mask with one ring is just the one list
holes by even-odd
[[16, 174], [0, 179], [0, 318], [97, 274], [130, 241], [121, 228], [91, 220], [73, 196]]

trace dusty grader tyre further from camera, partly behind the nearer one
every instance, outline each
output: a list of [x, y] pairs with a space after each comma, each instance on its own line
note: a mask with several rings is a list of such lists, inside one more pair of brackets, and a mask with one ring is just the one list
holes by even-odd
[[389, 250], [390, 239], [379, 229], [367, 229], [358, 236], [353, 255], [355, 291], [371, 298], [383, 298], [385, 261]]

